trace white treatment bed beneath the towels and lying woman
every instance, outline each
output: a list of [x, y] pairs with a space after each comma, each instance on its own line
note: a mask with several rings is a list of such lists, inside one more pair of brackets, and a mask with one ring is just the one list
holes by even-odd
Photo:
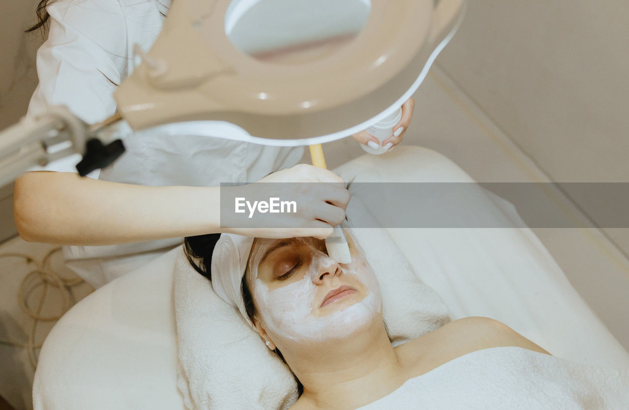
[[[362, 156], [336, 172], [350, 183], [471, 181], [452, 161], [419, 147]], [[352, 192], [362, 194], [367, 205], [386, 208], [387, 198]], [[515, 208], [492, 198], [492, 212], [513, 220], [513, 228], [387, 231], [413, 271], [443, 299], [452, 320], [487, 316], [555, 356], [629, 369], [628, 353], [537, 237], [519, 228], [523, 222]], [[35, 409], [184, 409], [177, 389], [177, 252], [103, 286], [58, 321], [40, 353]]]

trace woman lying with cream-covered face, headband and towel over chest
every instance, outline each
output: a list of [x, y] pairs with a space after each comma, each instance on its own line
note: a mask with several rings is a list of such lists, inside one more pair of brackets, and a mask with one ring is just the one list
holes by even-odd
[[[237, 242], [240, 266], [204, 274], [298, 379], [301, 395], [292, 409], [629, 404], [629, 372], [552, 357], [488, 318], [452, 321], [393, 347], [378, 281], [351, 235], [350, 264], [328, 257], [325, 242], [314, 238], [223, 234], [216, 249], [225, 240]], [[203, 257], [203, 244], [188, 239], [186, 245], [200, 266], [221, 266]]]

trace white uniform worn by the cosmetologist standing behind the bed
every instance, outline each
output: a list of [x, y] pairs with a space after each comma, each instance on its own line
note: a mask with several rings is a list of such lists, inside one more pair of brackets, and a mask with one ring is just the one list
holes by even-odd
[[[112, 93], [134, 68], [133, 45], [145, 51], [152, 46], [167, 6], [169, 3], [159, 0], [57, 0], [50, 4], [48, 40], [37, 53], [40, 84], [28, 113], [38, 114], [48, 105], [64, 104], [89, 123], [114, 114]], [[216, 126], [235, 128], [225, 122], [216, 122]], [[167, 138], [154, 132], [137, 132], [125, 141], [125, 146], [126, 153], [101, 171], [99, 179], [150, 186], [257, 181], [296, 165], [303, 155], [301, 147], [276, 148], [190, 136]], [[76, 162], [75, 158], [48, 169], [75, 172], [69, 165]], [[69, 267], [98, 287], [181, 242], [180, 238], [68, 246], [64, 254]]]

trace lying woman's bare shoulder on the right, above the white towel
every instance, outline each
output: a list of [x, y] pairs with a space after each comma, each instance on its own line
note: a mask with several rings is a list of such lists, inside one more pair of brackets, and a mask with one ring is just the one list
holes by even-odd
[[505, 346], [549, 354], [504, 323], [480, 316], [451, 321], [396, 350], [401, 360], [423, 374], [467, 353]]

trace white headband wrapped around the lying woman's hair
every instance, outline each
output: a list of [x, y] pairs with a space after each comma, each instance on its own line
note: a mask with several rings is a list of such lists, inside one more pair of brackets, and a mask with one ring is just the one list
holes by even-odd
[[218, 296], [238, 308], [250, 325], [245, 301], [242, 298], [242, 277], [253, 245], [253, 237], [221, 234], [212, 253], [212, 288]]

